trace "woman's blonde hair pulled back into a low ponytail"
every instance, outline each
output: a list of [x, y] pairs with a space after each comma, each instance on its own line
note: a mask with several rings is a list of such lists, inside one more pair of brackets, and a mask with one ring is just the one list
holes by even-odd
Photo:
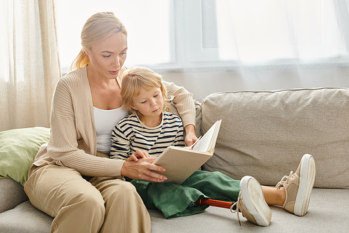
[[71, 64], [70, 71], [82, 68], [89, 64], [89, 56], [84, 53], [85, 49], [91, 50], [94, 45], [98, 45], [98, 43], [101, 43], [106, 38], [117, 32], [122, 32], [127, 36], [124, 24], [115, 17], [114, 13], [102, 12], [89, 17], [81, 31], [82, 48], [74, 59], [73, 64]]

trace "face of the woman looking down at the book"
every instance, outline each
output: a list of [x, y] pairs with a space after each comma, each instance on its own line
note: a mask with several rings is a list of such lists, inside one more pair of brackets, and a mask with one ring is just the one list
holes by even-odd
[[122, 32], [112, 34], [91, 50], [85, 50], [89, 56], [89, 69], [105, 78], [117, 78], [124, 65], [127, 51], [127, 36]]

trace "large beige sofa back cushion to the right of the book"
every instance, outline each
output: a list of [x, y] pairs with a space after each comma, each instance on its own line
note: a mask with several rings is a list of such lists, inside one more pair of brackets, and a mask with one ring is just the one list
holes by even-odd
[[202, 101], [202, 133], [223, 119], [204, 169], [276, 185], [313, 155], [315, 187], [349, 188], [349, 90], [222, 92]]

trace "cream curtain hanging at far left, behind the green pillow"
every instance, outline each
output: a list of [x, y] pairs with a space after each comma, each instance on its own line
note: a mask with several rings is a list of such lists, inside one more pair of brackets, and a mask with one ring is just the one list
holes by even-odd
[[54, 0], [0, 0], [0, 131], [50, 127], [61, 76]]

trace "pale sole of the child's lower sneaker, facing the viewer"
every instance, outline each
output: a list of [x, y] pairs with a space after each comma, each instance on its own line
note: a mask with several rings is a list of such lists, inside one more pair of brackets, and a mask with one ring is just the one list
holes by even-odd
[[244, 176], [240, 182], [240, 192], [246, 209], [255, 218], [255, 222], [263, 227], [269, 226], [272, 211], [265, 202], [260, 183], [252, 176]]

